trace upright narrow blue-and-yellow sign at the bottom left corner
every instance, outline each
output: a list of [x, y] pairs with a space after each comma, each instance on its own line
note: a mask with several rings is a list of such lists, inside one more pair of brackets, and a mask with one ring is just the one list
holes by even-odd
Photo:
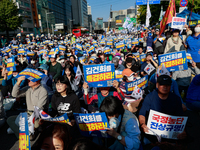
[[21, 113], [19, 117], [19, 150], [29, 150], [30, 138], [27, 113]]

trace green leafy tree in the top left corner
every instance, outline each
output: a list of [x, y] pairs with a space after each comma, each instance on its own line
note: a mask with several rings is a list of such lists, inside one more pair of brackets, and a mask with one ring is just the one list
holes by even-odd
[[9, 40], [9, 31], [14, 31], [21, 26], [23, 19], [12, 0], [0, 0], [0, 31], [6, 31]]

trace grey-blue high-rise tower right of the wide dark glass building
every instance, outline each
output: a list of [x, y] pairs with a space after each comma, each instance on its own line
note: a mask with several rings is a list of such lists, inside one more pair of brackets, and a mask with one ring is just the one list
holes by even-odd
[[74, 25], [88, 27], [87, 0], [72, 0], [72, 18]]

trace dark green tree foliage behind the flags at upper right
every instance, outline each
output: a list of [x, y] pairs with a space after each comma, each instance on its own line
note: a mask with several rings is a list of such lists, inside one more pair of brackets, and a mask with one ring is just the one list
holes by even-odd
[[[180, 1], [181, 0], [175, 0], [176, 2], [176, 12], [179, 11], [180, 7]], [[193, 0], [188, 0], [188, 10], [191, 10], [192, 8], [192, 1]], [[161, 11], [161, 5], [163, 6], [163, 11], [166, 11], [169, 2], [168, 1], [162, 1], [160, 4], [154, 4], [154, 5], [149, 5], [150, 10], [151, 10], [151, 18], [150, 18], [150, 25], [155, 25], [159, 21], [160, 17], [160, 11]], [[138, 12], [140, 15], [137, 16], [138, 22], [141, 24], [145, 24], [146, 21], [146, 11], [147, 11], [147, 6], [146, 5], [140, 5]], [[193, 12], [195, 13], [200, 13], [200, 0], [194, 0], [194, 8]]]

